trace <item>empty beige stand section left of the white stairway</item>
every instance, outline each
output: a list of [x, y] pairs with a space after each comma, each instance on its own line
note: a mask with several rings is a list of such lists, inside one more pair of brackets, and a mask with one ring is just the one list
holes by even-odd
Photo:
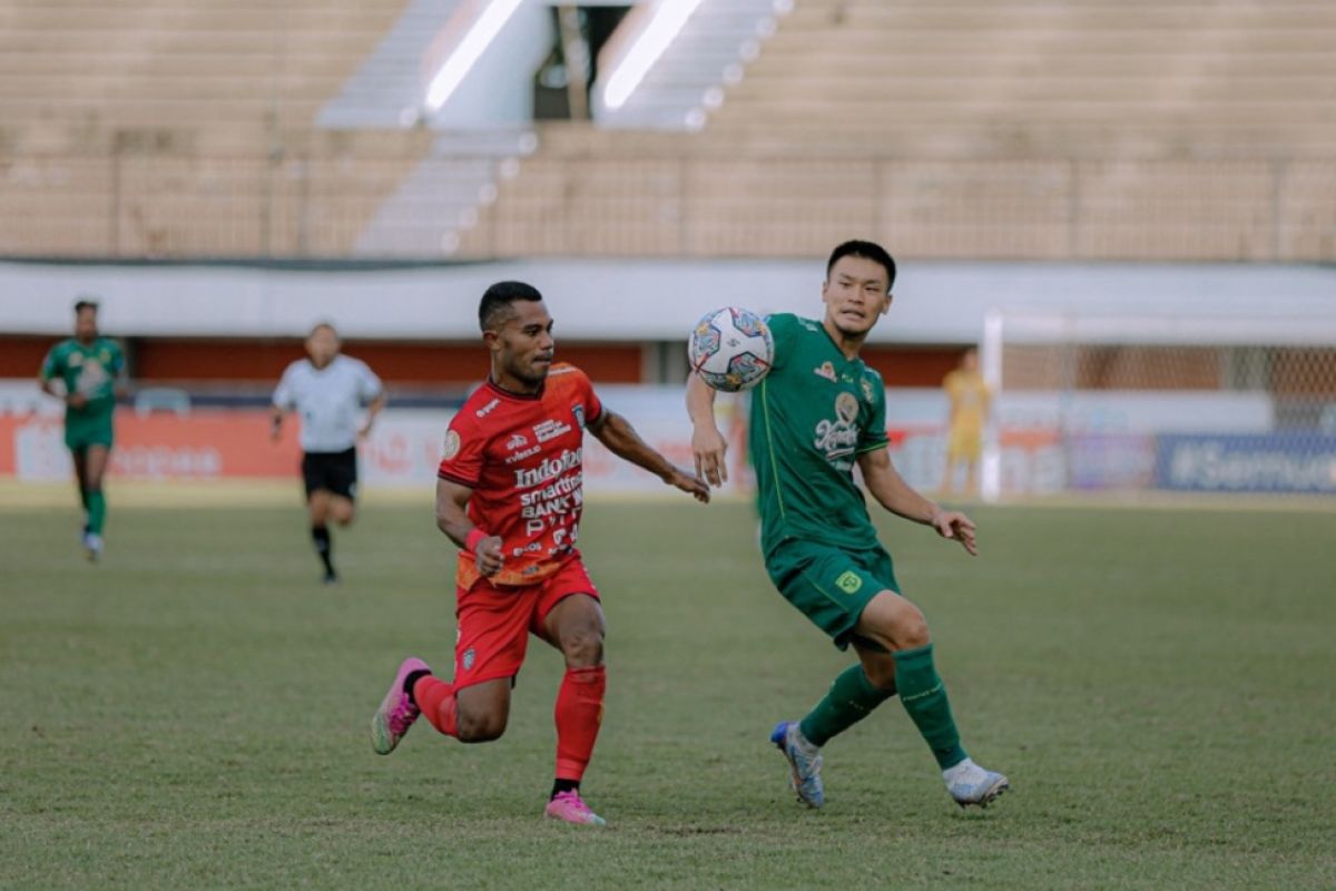
[[401, 0], [0, 12], [0, 251], [349, 252], [430, 146], [313, 123]]

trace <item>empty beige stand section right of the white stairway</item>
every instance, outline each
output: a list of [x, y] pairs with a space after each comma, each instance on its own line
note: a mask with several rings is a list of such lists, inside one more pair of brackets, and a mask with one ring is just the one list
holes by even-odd
[[545, 126], [460, 252], [1331, 259], [1333, 36], [1303, 0], [803, 0], [697, 136]]

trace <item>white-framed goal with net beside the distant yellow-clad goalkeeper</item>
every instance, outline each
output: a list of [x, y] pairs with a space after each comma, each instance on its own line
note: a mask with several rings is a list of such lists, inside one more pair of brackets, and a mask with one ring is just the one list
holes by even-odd
[[986, 500], [1229, 493], [1336, 509], [1329, 319], [994, 313]]

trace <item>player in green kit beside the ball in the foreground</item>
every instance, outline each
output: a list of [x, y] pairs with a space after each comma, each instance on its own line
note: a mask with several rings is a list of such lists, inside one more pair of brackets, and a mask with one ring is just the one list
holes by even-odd
[[[970, 518], [911, 489], [886, 450], [886, 390], [858, 353], [891, 309], [894, 281], [895, 260], [883, 247], [846, 242], [826, 266], [824, 318], [768, 319], [775, 357], [752, 391], [749, 439], [766, 569], [788, 602], [836, 647], [852, 647], [859, 660], [806, 717], [780, 721], [771, 741], [788, 759], [799, 799], [820, 807], [820, 748], [899, 693], [951, 797], [982, 807], [1009, 788], [1007, 779], [975, 764], [961, 747], [927, 622], [900, 593], [854, 481], [856, 466], [883, 508], [978, 553]], [[692, 375], [692, 450], [697, 470], [720, 485], [727, 443], [715, 426], [713, 401], [713, 390]]]

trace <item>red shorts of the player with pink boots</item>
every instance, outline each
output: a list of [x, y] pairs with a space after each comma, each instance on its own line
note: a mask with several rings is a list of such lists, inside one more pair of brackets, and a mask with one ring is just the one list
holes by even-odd
[[456, 589], [454, 688], [518, 675], [529, 635], [538, 635], [552, 608], [570, 594], [599, 600], [578, 557], [534, 585], [497, 588], [480, 578]]

